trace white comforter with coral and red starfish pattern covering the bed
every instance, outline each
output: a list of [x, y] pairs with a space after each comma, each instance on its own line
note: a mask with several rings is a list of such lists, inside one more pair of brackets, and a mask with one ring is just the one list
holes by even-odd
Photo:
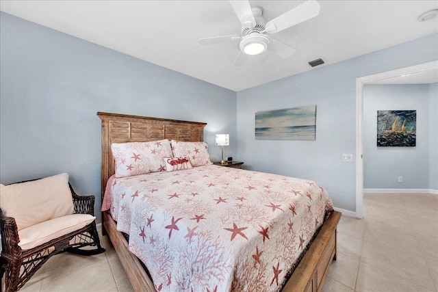
[[157, 291], [279, 291], [333, 210], [313, 181], [217, 165], [109, 184]]

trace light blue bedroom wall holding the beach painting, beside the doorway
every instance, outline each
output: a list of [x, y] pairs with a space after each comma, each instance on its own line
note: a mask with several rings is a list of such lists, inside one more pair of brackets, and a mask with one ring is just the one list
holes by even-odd
[[[247, 168], [311, 178], [335, 207], [355, 211], [356, 78], [438, 59], [438, 35], [237, 92], [237, 155]], [[316, 141], [255, 140], [255, 112], [316, 105]]]

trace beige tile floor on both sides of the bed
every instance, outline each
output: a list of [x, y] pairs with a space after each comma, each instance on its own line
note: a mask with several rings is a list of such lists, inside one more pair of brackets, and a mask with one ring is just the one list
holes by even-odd
[[[362, 220], [343, 216], [323, 292], [438, 291], [438, 196], [366, 194]], [[21, 291], [133, 291], [107, 237], [97, 256], [53, 256]]]

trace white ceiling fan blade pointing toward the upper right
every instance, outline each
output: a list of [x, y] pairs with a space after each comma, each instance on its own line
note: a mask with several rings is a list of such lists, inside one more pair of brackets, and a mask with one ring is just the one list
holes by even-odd
[[283, 29], [292, 27], [293, 25], [298, 25], [303, 21], [307, 21], [320, 14], [321, 5], [318, 1], [309, 0], [296, 8], [289, 10], [285, 14], [272, 19], [266, 23], [266, 32], [270, 34], [275, 34]]

